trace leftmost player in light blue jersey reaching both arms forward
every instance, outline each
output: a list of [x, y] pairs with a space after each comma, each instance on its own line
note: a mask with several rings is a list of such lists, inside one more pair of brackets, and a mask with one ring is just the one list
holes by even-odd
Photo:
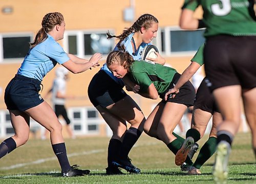
[[61, 167], [62, 176], [82, 176], [89, 170], [70, 166], [66, 146], [61, 134], [62, 126], [49, 104], [39, 94], [42, 78], [58, 63], [73, 73], [98, 66], [102, 58], [97, 53], [90, 61], [67, 54], [56, 42], [63, 39], [65, 21], [61, 13], [48, 13], [41, 22], [42, 28], [26, 55], [22, 66], [5, 90], [5, 103], [10, 112], [15, 135], [0, 145], [0, 158], [29, 139], [30, 117], [50, 131], [51, 144]]

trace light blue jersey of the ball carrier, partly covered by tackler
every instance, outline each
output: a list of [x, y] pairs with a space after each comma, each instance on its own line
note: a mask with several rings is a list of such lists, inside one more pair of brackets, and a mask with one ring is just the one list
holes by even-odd
[[[123, 44], [125, 47], [125, 50], [129, 52], [129, 54], [133, 57], [134, 60], [141, 60], [141, 54], [146, 45], [151, 45], [151, 43], [141, 43], [138, 50], [136, 53], [133, 55], [133, 45], [132, 45], [132, 38], [133, 38], [134, 33], [131, 33], [129, 36], [127, 36], [121, 43], [118, 44]], [[118, 50], [118, 44], [115, 46], [114, 50]], [[104, 63], [103, 66], [101, 67], [101, 70], [104, 70], [113, 80], [115, 80], [118, 84], [121, 86], [124, 86], [123, 81], [121, 78], [115, 77], [112, 72], [109, 70], [109, 68], [106, 66]]]

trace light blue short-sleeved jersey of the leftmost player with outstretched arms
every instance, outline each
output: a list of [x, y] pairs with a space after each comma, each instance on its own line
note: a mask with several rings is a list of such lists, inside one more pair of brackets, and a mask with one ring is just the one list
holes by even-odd
[[29, 50], [17, 74], [42, 81], [57, 63], [63, 64], [68, 60], [70, 58], [67, 53], [48, 35], [45, 41]]

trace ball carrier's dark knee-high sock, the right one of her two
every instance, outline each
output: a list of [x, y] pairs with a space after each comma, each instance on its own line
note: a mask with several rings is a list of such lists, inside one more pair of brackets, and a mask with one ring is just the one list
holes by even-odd
[[120, 147], [120, 151], [119, 151], [119, 156], [122, 159], [127, 159], [129, 152], [131, 151], [132, 147], [139, 139], [141, 133], [142, 132], [140, 132], [140, 130], [138, 130], [137, 128], [134, 128], [134, 127], [130, 127], [126, 131], [126, 133], [123, 137], [123, 142]]

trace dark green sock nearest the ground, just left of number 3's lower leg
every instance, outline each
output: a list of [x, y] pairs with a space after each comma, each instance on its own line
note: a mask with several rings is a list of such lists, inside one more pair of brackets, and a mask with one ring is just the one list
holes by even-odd
[[215, 153], [217, 148], [217, 138], [210, 137], [200, 149], [194, 167], [200, 169], [201, 166]]

